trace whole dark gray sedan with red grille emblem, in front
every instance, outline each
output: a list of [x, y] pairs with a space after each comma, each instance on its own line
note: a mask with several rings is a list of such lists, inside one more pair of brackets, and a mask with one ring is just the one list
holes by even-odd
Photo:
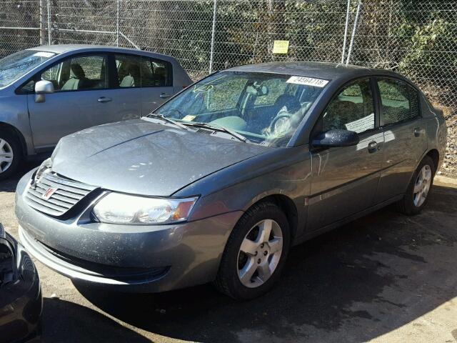
[[241, 66], [61, 139], [19, 182], [19, 235], [72, 279], [249, 299], [294, 244], [388, 204], [421, 212], [445, 146], [442, 112], [391, 71]]

